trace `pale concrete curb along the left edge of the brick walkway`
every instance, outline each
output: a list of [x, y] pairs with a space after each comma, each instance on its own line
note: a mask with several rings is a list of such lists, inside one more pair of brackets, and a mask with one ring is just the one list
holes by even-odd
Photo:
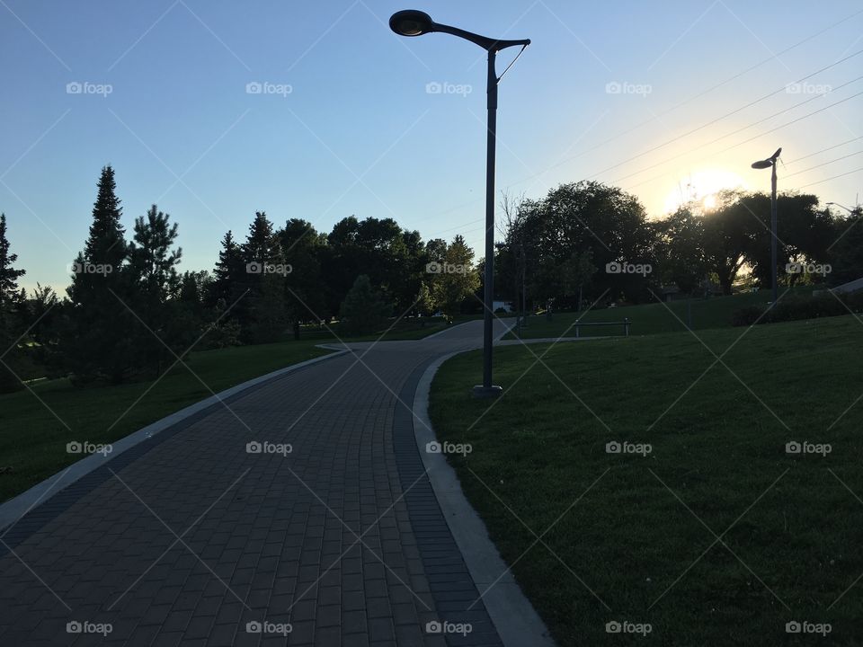
[[[322, 346], [323, 348], [323, 346]], [[86, 458], [82, 458], [77, 463], [73, 463], [69, 465], [62, 472], [58, 472], [58, 474], [54, 474], [49, 476], [47, 479], [42, 481], [41, 483], [37, 483], [30, 488], [30, 490], [26, 490], [19, 494], [13, 499], [9, 501], [5, 501], [4, 503], [0, 503], [0, 531], [5, 531], [8, 527], [14, 526], [27, 512], [35, 508], [40, 503], [44, 503], [45, 501], [49, 501], [51, 497], [56, 495], [58, 492], [62, 492], [69, 485], [76, 483], [76, 481], [80, 480], [87, 474], [92, 473], [93, 471], [105, 465], [108, 461], [116, 456], [120, 456], [123, 452], [129, 450], [130, 448], [135, 447], [136, 445], [144, 442], [147, 439], [156, 436], [156, 434], [170, 429], [173, 425], [178, 422], [182, 422], [187, 418], [199, 413], [209, 406], [213, 404], [217, 404], [222, 400], [227, 399], [232, 395], [239, 394], [245, 391], [248, 388], [252, 388], [254, 386], [259, 386], [264, 382], [269, 382], [271, 379], [276, 377], [281, 377], [288, 373], [292, 373], [295, 370], [299, 370], [300, 368], [306, 368], [312, 364], [316, 364], [317, 362], [324, 361], [325, 359], [332, 359], [339, 355], [343, 355], [348, 352], [347, 350], [338, 350], [336, 352], [330, 353], [329, 355], [324, 355], [319, 358], [307, 359], [306, 361], [299, 362], [298, 364], [291, 364], [289, 367], [280, 368], [278, 370], [272, 371], [271, 373], [267, 373], [266, 375], [254, 377], [246, 382], [232, 386], [225, 391], [221, 391], [218, 394], [211, 395], [206, 400], [201, 400], [198, 403], [190, 404], [189, 406], [181, 409], [178, 412], [173, 412], [169, 416], [165, 416], [161, 420], [148, 424], [147, 427], [139, 429], [138, 431], [134, 431], [129, 436], [126, 436], [116, 442], [111, 443], [112, 451], [110, 454], [91, 454]], [[60, 481], [63, 482], [63, 485], [60, 486]]]

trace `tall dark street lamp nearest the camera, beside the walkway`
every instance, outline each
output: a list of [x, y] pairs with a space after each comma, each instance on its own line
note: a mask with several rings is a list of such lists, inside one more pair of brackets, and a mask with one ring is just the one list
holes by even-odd
[[[422, 36], [423, 34], [439, 31], [458, 36], [479, 45], [488, 52], [488, 83], [486, 93], [488, 94], [488, 137], [485, 148], [485, 317], [483, 327], [483, 384], [474, 387], [477, 397], [494, 397], [502, 393], [500, 386], [492, 386], [492, 317], [494, 300], [494, 146], [497, 130], [497, 84], [500, 82], [506, 70], [501, 76], [497, 75], [494, 67], [497, 52], [502, 49], [521, 46], [524, 51], [530, 44], [530, 40], [496, 40], [480, 36], [470, 31], [438, 24], [432, 21], [428, 13], [409, 9], [393, 13], [389, 19], [389, 27], [400, 36]], [[519, 52], [520, 55], [521, 52]], [[518, 58], [518, 57], [516, 57]], [[513, 60], [513, 63], [515, 61]], [[512, 66], [512, 63], [510, 64]], [[506, 69], [509, 69], [507, 67]]]

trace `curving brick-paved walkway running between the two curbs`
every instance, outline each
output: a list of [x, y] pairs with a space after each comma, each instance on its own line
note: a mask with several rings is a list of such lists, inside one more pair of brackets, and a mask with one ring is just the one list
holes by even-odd
[[0, 536], [0, 643], [501, 645], [405, 408], [481, 331], [351, 344], [42, 502]]

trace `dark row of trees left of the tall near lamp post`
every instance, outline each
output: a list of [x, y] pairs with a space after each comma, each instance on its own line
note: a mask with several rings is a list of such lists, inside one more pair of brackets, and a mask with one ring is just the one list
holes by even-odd
[[[181, 271], [178, 226], [156, 205], [121, 224], [114, 170], [102, 169], [84, 249], [65, 297], [19, 287], [0, 216], [0, 391], [41, 370], [76, 385], [154, 377], [185, 353], [281, 341], [300, 324], [338, 319], [338, 334], [386, 327], [390, 317], [452, 318], [480, 307], [474, 253], [461, 236], [423, 242], [391, 218], [345, 217], [328, 235], [255, 213], [245, 239], [228, 231], [212, 271]], [[448, 271], [448, 268], [457, 270]]]

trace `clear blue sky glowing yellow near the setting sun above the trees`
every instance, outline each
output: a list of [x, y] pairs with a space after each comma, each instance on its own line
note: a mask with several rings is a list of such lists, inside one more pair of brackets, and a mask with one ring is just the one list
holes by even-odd
[[[424, 239], [462, 233], [481, 255], [484, 52], [397, 37], [387, 20], [404, 8], [533, 40], [501, 84], [500, 189], [537, 198], [595, 178], [658, 217], [681, 191], [768, 188], [749, 164], [777, 146], [780, 189], [863, 166], [863, 55], [698, 129], [863, 49], [863, 13], [827, 29], [859, 0], [0, 0], [0, 210], [22, 284], [67, 284], [103, 164], [129, 229], [153, 202], [179, 223], [183, 269], [211, 269], [225, 231], [245, 235], [260, 209], [322, 231], [351, 214], [395, 217]], [[246, 93], [255, 82], [290, 93]], [[451, 92], [428, 93], [435, 83]], [[857, 172], [802, 190], [852, 206], [861, 184]]]

